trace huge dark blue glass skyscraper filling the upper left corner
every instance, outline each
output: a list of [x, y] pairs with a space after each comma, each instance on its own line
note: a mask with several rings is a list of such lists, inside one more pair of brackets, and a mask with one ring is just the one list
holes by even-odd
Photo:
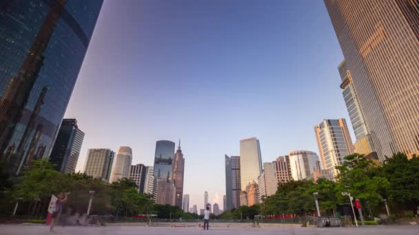
[[102, 5], [1, 1], [0, 161], [49, 157]]

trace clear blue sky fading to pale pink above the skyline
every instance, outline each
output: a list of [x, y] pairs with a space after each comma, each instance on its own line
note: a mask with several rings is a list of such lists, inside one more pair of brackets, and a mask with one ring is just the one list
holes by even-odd
[[222, 208], [240, 139], [263, 161], [318, 153], [314, 125], [347, 118], [342, 59], [320, 0], [105, 1], [65, 114], [85, 132], [77, 170], [119, 146], [151, 166], [156, 140], [180, 137], [190, 207], [208, 191]]

